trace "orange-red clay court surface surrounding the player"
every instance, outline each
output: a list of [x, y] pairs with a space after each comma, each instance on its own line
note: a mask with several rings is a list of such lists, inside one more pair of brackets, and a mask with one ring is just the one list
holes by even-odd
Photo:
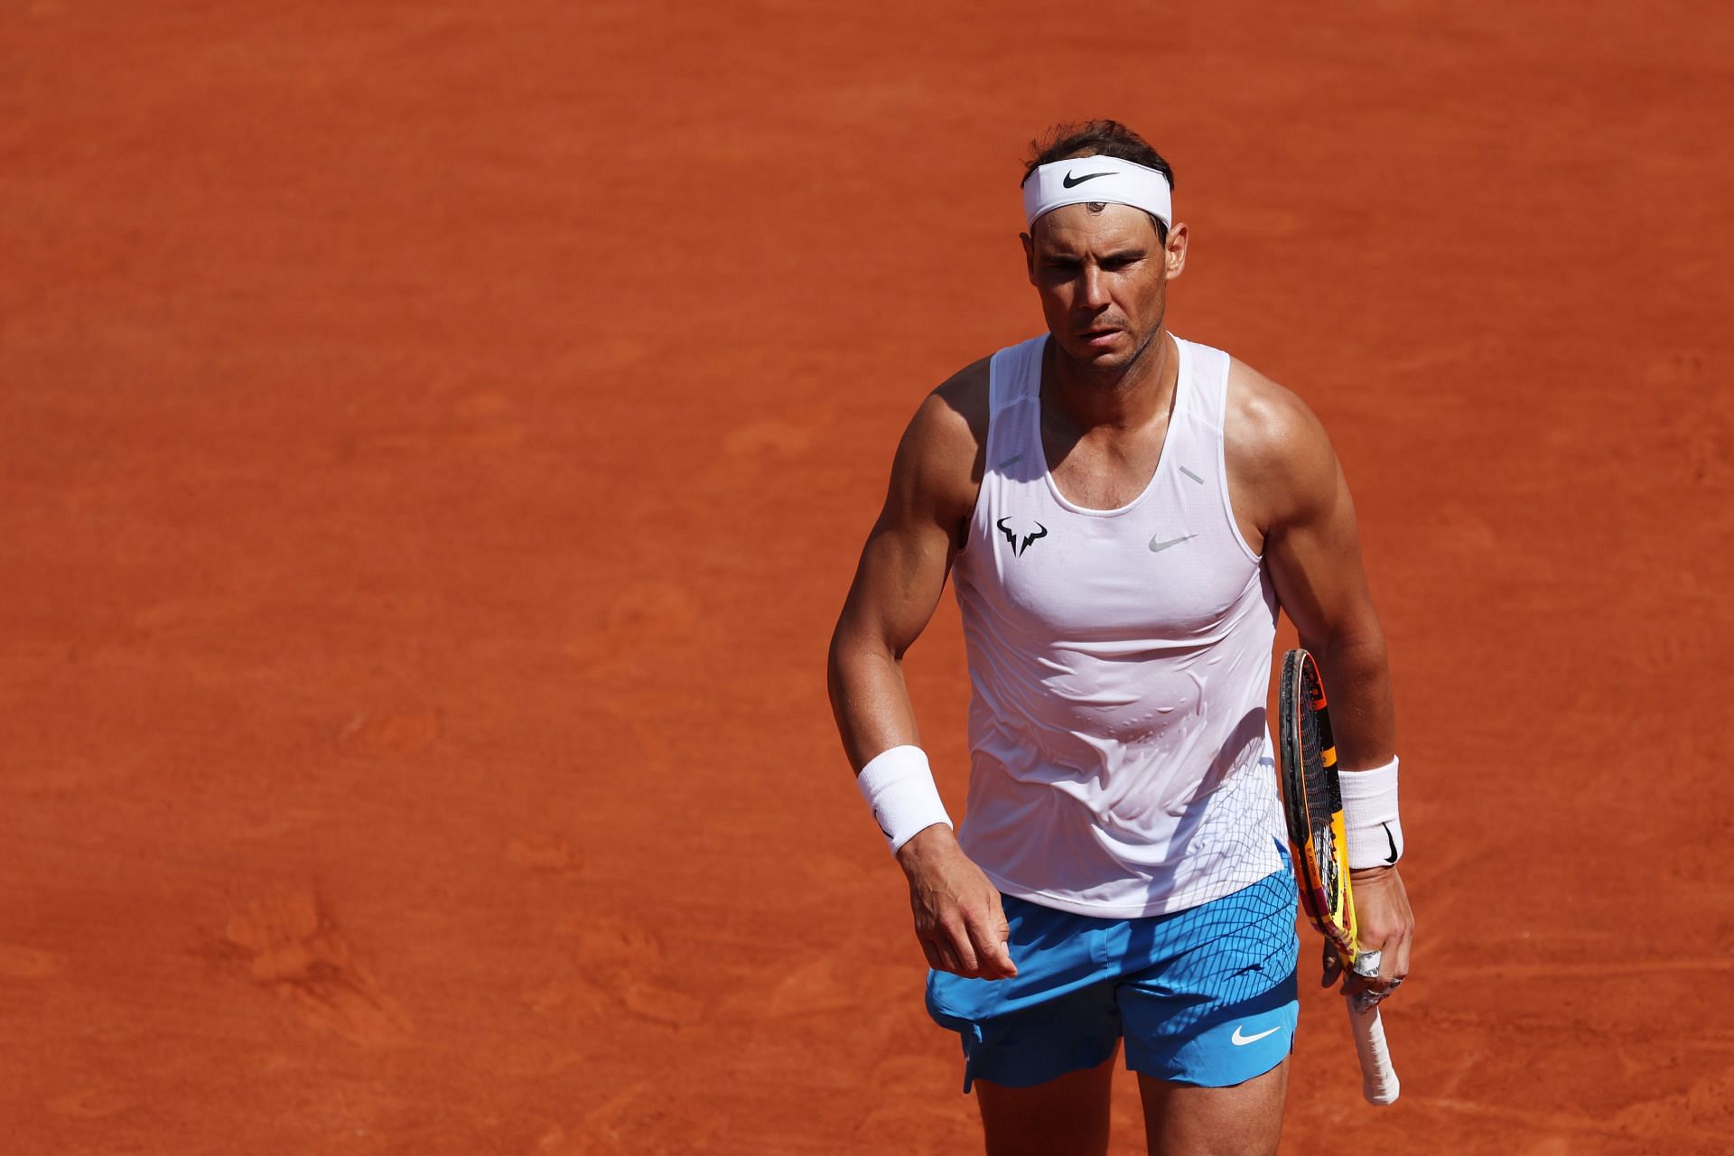
[[824, 650], [1091, 114], [1391, 636], [1403, 1101], [1307, 986], [1283, 1151], [1727, 1151], [1725, 5], [3, 19], [5, 1153], [975, 1149]]

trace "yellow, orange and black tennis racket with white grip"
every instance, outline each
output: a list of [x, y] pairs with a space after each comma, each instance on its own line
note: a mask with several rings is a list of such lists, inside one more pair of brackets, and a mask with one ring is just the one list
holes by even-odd
[[[1325, 936], [1325, 950], [1358, 976], [1379, 974], [1379, 951], [1361, 951], [1354, 938], [1354, 896], [1349, 887], [1349, 841], [1342, 828], [1342, 787], [1337, 780], [1337, 749], [1325, 714], [1325, 685], [1318, 664], [1306, 650], [1283, 655], [1278, 690], [1281, 749], [1278, 778], [1283, 813], [1288, 816], [1288, 846], [1294, 851], [1300, 908]], [[1379, 1000], [1344, 993], [1354, 1050], [1361, 1054], [1361, 1092], [1370, 1104], [1398, 1099], [1398, 1073], [1391, 1068]]]

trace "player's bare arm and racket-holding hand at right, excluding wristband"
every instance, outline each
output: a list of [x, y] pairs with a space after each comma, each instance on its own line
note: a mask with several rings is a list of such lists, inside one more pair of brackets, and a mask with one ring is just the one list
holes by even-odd
[[[1396, 756], [1391, 666], [1330, 438], [1300, 399], [1236, 364], [1226, 444], [1236, 510], [1245, 499], [1276, 598], [1325, 679], [1340, 766], [1384, 766]], [[1396, 867], [1354, 872], [1354, 912], [1363, 946], [1384, 953], [1372, 986], [1385, 990], [1408, 974], [1415, 932]]]

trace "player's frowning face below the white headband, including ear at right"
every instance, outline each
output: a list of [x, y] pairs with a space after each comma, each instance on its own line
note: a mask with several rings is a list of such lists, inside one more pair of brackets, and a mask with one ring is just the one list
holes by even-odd
[[1059, 352], [1085, 369], [1125, 369], [1162, 328], [1186, 225], [1164, 246], [1141, 208], [1063, 205], [1023, 236], [1023, 255]]

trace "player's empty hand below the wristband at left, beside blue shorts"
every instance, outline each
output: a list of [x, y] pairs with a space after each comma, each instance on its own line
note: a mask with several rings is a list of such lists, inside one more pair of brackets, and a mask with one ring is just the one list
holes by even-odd
[[950, 827], [935, 823], [919, 832], [896, 849], [896, 861], [909, 875], [916, 938], [931, 967], [969, 979], [1018, 974], [999, 887], [969, 861]]

